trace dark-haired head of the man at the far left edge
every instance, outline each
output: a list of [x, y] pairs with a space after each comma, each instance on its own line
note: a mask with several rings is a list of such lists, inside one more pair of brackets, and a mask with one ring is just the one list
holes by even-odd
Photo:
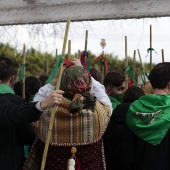
[[9, 58], [0, 57], [0, 80], [13, 87], [16, 81], [17, 69]]

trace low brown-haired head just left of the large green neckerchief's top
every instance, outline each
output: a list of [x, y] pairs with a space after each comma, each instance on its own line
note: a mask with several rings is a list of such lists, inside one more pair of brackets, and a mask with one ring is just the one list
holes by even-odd
[[145, 92], [143, 89], [137, 86], [129, 87], [122, 98], [122, 103], [132, 103], [137, 100], [139, 97], [144, 96]]

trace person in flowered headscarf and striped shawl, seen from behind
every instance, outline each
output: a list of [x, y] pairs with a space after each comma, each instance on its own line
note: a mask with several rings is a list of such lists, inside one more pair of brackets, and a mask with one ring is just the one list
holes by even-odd
[[[95, 89], [90, 73], [82, 66], [71, 66], [63, 72], [60, 89], [65, 93], [55, 113], [46, 169], [65, 170], [71, 166], [71, 157], [75, 161], [74, 168], [105, 169], [102, 137], [110, 118], [111, 103], [103, 88], [97, 90], [109, 105], [101, 96], [100, 100], [92, 96], [89, 93], [92, 84]], [[45, 93], [47, 91], [47, 88], [44, 89]], [[41, 100], [45, 95], [42, 92], [41, 89], [34, 100]], [[25, 163], [25, 170], [40, 169], [50, 115], [51, 111], [46, 110], [35, 124], [37, 140]], [[73, 148], [77, 150], [74, 154], [71, 153]]]

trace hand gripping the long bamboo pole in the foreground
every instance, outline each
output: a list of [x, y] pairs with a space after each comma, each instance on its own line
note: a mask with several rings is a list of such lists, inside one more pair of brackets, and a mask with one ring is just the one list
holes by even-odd
[[58, 105], [63, 98], [64, 91], [55, 90], [40, 103], [42, 110]]

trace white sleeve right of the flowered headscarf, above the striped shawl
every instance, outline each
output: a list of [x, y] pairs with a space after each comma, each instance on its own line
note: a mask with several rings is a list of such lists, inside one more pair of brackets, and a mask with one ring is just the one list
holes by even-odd
[[92, 78], [92, 87], [90, 90], [90, 94], [92, 96], [95, 96], [97, 99], [101, 100], [102, 102], [106, 103], [110, 109], [111, 109], [111, 114], [112, 114], [112, 103], [108, 97], [108, 95], [106, 94], [106, 90], [104, 85], [102, 85], [101, 83], [99, 83], [98, 81], [96, 81], [93, 77]]

